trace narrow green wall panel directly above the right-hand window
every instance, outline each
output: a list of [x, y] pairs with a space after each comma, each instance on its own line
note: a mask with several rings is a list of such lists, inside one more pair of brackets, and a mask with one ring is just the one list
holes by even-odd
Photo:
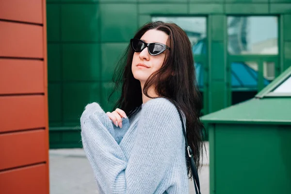
[[268, 4], [232, 3], [226, 4], [226, 14], [268, 14]]

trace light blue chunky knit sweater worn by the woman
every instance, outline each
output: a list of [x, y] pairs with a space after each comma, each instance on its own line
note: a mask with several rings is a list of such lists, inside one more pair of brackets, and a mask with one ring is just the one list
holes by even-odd
[[149, 100], [130, 126], [123, 118], [122, 129], [88, 104], [81, 137], [100, 194], [188, 194], [182, 124], [167, 99]]

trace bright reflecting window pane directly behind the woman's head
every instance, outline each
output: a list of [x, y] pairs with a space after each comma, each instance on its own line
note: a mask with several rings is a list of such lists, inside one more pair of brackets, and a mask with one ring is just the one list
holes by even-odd
[[205, 54], [206, 17], [152, 17], [152, 21], [175, 23], [181, 27], [193, 45], [194, 54]]

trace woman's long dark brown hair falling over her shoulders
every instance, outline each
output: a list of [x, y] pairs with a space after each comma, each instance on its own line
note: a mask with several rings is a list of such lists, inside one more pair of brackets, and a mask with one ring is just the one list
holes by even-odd
[[[171, 51], [166, 52], [162, 67], [147, 79], [143, 93], [150, 97], [147, 91], [151, 86], [155, 86], [155, 93], [159, 97], [169, 99], [178, 105], [185, 114], [188, 144], [193, 150], [194, 161], [199, 168], [201, 167], [200, 156], [203, 153], [203, 130], [205, 129], [200, 121], [202, 102], [196, 83], [191, 43], [180, 27], [174, 23], [164, 23], [162, 21], [144, 25], [135, 34], [134, 38], [140, 39], [146, 31], [152, 29], [169, 35], [167, 45], [171, 48]], [[114, 110], [120, 108], [129, 117], [143, 103], [141, 83], [133, 77], [131, 71], [133, 54], [134, 51], [129, 45], [113, 75], [113, 81], [115, 82], [113, 93], [121, 89], [121, 95]], [[189, 166], [188, 161], [188, 175], [191, 177]]]

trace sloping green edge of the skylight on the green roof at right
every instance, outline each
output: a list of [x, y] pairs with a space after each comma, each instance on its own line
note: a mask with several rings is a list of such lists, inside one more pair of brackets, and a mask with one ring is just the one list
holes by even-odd
[[273, 91], [282, 81], [285, 81], [291, 75], [291, 66], [281, 73], [274, 81], [262, 89], [255, 97], [265, 97], [269, 92]]

